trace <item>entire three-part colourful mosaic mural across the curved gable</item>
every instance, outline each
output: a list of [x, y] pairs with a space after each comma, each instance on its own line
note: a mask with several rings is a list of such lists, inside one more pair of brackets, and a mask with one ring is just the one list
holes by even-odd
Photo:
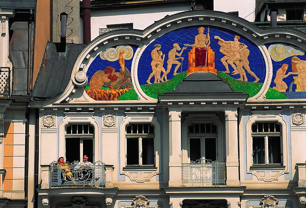
[[[273, 77], [266, 99], [306, 98], [304, 51], [285, 44], [266, 45]], [[101, 52], [87, 71], [87, 94], [95, 100], [137, 100], [131, 81], [138, 46], [117, 45]], [[185, 27], [164, 34], [143, 49], [137, 76], [146, 95], [174, 91], [189, 74], [208, 71], [249, 97], [263, 86], [266, 64], [259, 47], [241, 34], [219, 27]]]

